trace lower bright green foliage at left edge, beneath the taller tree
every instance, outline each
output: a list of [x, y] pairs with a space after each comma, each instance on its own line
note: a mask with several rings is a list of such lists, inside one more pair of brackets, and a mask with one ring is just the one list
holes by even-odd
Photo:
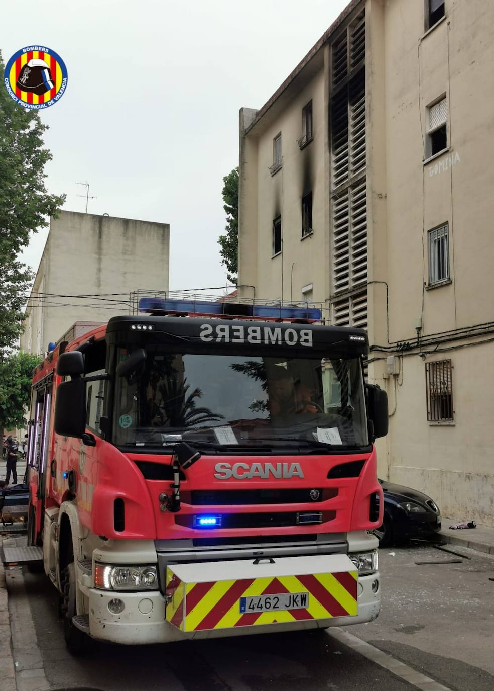
[[39, 355], [18, 352], [0, 362], [0, 428], [22, 427], [29, 406], [32, 370]]

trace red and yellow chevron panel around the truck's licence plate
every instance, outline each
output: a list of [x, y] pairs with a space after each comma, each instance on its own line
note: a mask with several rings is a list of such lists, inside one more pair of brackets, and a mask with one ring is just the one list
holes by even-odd
[[[184, 583], [168, 567], [166, 584], [166, 620], [181, 631], [357, 615], [356, 571]], [[300, 592], [309, 594], [306, 609], [240, 613], [241, 597]]]

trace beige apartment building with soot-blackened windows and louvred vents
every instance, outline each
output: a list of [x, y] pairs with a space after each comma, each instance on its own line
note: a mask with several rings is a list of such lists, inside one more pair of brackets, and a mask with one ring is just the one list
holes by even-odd
[[366, 328], [379, 473], [494, 524], [488, 0], [348, 5], [240, 112], [239, 292]]

